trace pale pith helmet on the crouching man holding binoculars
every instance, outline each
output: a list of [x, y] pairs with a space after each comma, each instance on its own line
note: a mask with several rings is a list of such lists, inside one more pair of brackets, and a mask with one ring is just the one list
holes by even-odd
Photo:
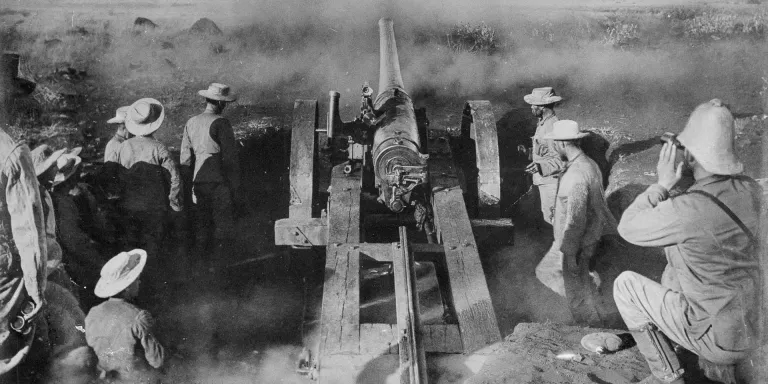
[[677, 139], [706, 171], [735, 175], [744, 165], [733, 148], [734, 134], [731, 111], [720, 99], [712, 99], [693, 110]]

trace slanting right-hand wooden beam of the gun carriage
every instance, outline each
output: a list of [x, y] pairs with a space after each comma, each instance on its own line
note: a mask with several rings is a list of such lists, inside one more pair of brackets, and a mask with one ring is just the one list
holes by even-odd
[[472, 352], [501, 340], [496, 314], [461, 191], [435, 192], [433, 207], [464, 352]]

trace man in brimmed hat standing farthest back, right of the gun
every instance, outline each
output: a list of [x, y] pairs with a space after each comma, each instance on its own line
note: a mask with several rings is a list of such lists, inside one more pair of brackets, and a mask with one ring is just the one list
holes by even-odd
[[536, 124], [533, 147], [530, 149], [519, 146], [520, 152], [527, 153], [533, 161], [525, 171], [533, 175], [533, 185], [539, 190], [541, 213], [547, 224], [552, 224], [553, 210], [555, 207], [555, 189], [557, 188], [557, 175], [563, 169], [564, 162], [557, 153], [554, 153], [544, 136], [552, 133], [552, 125], [558, 121], [555, 116], [555, 103], [563, 98], [557, 96], [552, 87], [534, 88], [530, 95], [523, 98], [531, 105], [531, 111], [539, 121]]

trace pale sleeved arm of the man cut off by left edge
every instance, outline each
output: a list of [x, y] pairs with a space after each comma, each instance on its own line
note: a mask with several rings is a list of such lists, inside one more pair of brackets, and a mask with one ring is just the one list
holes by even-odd
[[5, 195], [11, 231], [21, 258], [24, 287], [35, 302], [35, 310], [28, 316], [33, 317], [44, 305], [47, 252], [43, 206], [29, 149], [26, 146], [14, 149], [4, 168], [8, 176]]

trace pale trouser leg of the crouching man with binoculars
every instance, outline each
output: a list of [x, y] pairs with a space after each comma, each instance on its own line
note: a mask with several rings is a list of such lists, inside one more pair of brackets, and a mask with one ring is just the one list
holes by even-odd
[[643, 275], [622, 272], [613, 284], [613, 296], [629, 330], [653, 323], [670, 340], [715, 364], [735, 364], [747, 357], [746, 352], [718, 347], [711, 329], [699, 338], [689, 334], [685, 296]]

